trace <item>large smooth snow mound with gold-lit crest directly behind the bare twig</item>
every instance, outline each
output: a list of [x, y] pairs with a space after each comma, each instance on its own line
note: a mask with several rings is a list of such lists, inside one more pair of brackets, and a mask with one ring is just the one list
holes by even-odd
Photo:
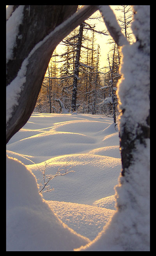
[[[52, 180], [50, 186], [55, 190], [52, 193], [45, 193], [44, 199], [92, 204], [102, 197], [115, 193], [114, 186], [121, 172], [120, 158], [89, 153], [57, 156], [47, 161], [49, 164], [46, 173], [55, 174], [60, 166], [66, 165], [66, 162], [69, 162], [68, 167], [73, 166], [74, 172]], [[37, 166], [43, 170], [45, 165], [41, 162], [28, 167], [41, 181], [41, 172]]]

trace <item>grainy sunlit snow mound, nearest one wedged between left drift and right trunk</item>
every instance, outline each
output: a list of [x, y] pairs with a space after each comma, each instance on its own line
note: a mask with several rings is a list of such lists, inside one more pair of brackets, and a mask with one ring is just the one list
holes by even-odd
[[87, 204], [47, 201], [58, 217], [81, 235], [93, 240], [102, 231], [114, 210]]

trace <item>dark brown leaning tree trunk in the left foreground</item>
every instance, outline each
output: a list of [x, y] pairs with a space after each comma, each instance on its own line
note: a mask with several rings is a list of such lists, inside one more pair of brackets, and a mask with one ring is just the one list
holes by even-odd
[[[16, 15], [19, 7], [14, 6], [12, 15]], [[48, 63], [56, 46], [75, 27], [97, 10], [95, 6], [87, 6], [75, 16], [71, 16], [76, 12], [77, 7], [77, 5], [24, 6], [23, 21], [19, 26], [19, 32], [14, 43], [13, 57], [7, 62], [8, 91], [9, 88], [12, 88], [12, 82], [15, 83], [24, 60], [27, 60], [26, 81], [18, 93], [18, 104], [12, 106], [11, 113], [8, 115], [7, 142], [27, 123], [31, 116]], [[71, 19], [67, 23], [63, 23], [69, 17]], [[53, 34], [47, 38], [46, 36], [52, 31]]]

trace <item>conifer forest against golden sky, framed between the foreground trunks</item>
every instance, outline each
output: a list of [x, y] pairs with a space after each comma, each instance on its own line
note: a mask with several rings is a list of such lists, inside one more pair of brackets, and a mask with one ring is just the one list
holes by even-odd
[[[115, 8], [122, 32], [129, 43], [133, 42], [130, 24], [132, 7], [118, 5]], [[118, 14], [119, 13], [119, 14]], [[116, 123], [117, 82], [121, 78], [119, 66], [121, 53], [119, 46], [107, 29], [97, 30], [97, 23], [104, 21], [97, 11], [75, 28], [60, 43], [51, 56], [41, 91], [34, 111], [40, 113], [105, 114], [113, 117]], [[97, 35], [107, 37], [110, 50], [107, 53], [107, 66], [100, 66], [100, 45]]]

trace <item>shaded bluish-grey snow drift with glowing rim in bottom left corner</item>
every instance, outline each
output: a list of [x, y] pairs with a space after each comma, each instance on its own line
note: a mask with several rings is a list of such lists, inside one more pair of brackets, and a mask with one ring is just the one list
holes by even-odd
[[58, 219], [32, 172], [9, 157], [7, 187], [7, 251], [73, 251], [89, 242]]

